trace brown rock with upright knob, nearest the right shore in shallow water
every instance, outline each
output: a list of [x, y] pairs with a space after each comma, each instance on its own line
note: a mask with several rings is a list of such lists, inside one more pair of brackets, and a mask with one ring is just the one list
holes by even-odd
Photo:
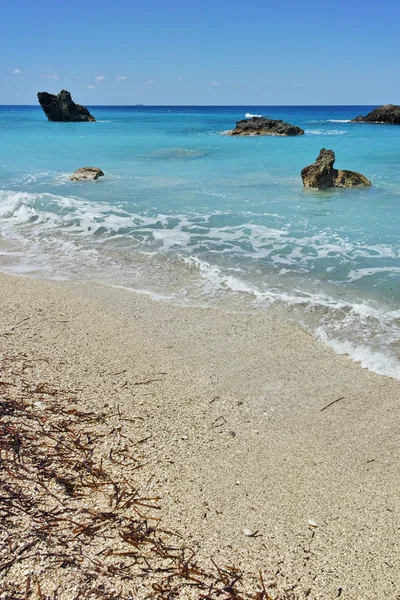
[[322, 148], [315, 163], [304, 167], [301, 172], [303, 185], [307, 188], [325, 189], [331, 187], [368, 187], [369, 179], [355, 171], [342, 171], [333, 168], [335, 153]]

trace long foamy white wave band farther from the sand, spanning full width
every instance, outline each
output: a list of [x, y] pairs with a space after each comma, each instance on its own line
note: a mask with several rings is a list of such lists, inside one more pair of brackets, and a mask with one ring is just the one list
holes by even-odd
[[[278, 227], [254, 223], [247, 212], [242, 214], [240, 224], [228, 225], [225, 219], [221, 224], [224, 214], [136, 213], [124, 205], [91, 202], [79, 196], [0, 190], [0, 223], [3, 235], [11, 237], [31, 239], [58, 232], [64, 238], [88, 238], [99, 244], [118, 236], [132, 246], [160, 252], [185, 249], [192, 254], [230, 254], [249, 261], [267, 260], [274, 268], [299, 272], [312, 272], [321, 263], [326, 274], [340, 267], [341, 277], [350, 282], [398, 269], [393, 270], [388, 260], [398, 260], [400, 250], [389, 245], [350, 241], [331, 231], [300, 236], [290, 223], [282, 222]], [[226, 218], [229, 219], [229, 213]], [[273, 215], [263, 218], [276, 223]], [[385, 259], [384, 267], [379, 264], [380, 259]], [[357, 262], [365, 260], [372, 261], [367, 271], [357, 267]]]

